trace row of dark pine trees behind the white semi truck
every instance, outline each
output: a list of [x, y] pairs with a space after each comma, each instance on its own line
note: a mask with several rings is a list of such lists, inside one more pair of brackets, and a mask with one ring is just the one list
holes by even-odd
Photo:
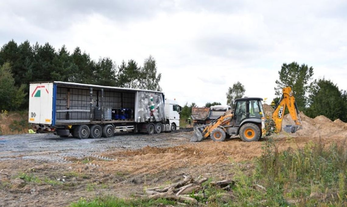
[[160, 79], [152, 56], [142, 66], [133, 59], [117, 65], [109, 57], [93, 60], [79, 47], [70, 53], [65, 46], [56, 50], [49, 43], [31, 45], [26, 40], [17, 44], [10, 40], [0, 49], [0, 111], [27, 109], [30, 82], [65, 81], [161, 91]]

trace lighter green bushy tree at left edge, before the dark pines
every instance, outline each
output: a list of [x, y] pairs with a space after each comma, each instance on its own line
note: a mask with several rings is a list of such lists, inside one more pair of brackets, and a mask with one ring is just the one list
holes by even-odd
[[23, 103], [25, 86], [15, 86], [9, 63], [0, 67], [0, 110], [17, 110]]

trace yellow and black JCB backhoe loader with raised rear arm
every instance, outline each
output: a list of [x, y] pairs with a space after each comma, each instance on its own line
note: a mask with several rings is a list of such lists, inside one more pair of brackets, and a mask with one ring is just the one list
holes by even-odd
[[[286, 125], [283, 130], [294, 133], [301, 129], [299, 111], [291, 88], [285, 87], [282, 92], [282, 97], [272, 114], [272, 120], [276, 125], [276, 131], [280, 132], [287, 106], [295, 125]], [[240, 135], [240, 138], [245, 142], [259, 140], [262, 134], [266, 134], [261, 101], [262, 98], [237, 98], [233, 111], [226, 112], [208, 125], [194, 127], [191, 141], [201, 141], [209, 136], [213, 141], [224, 141], [230, 135]]]

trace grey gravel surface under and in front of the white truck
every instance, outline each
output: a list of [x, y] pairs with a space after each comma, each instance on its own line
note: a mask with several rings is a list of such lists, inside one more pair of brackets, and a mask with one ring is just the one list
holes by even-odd
[[[181, 131], [189, 131], [187, 129]], [[147, 134], [122, 133], [111, 138], [60, 138], [54, 134], [19, 134], [0, 136], [0, 160], [35, 159], [65, 162], [63, 157], [98, 155], [107, 150], [150, 147], [173, 147], [188, 142], [180, 133]]]

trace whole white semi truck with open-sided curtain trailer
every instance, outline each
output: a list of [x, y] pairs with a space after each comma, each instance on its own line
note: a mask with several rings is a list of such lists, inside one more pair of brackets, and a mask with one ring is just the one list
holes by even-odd
[[60, 81], [31, 83], [29, 89], [29, 123], [60, 137], [171, 132], [179, 130], [180, 111], [159, 91]]

